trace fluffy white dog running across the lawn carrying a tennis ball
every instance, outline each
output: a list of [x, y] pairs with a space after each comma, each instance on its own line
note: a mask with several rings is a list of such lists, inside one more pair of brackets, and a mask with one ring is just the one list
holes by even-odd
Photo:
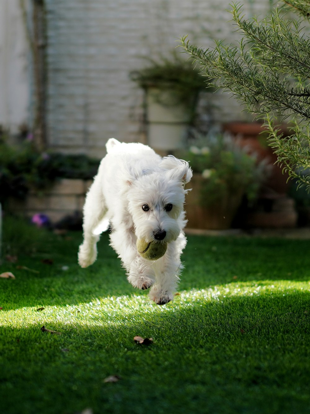
[[[111, 246], [126, 268], [129, 282], [150, 289], [150, 298], [164, 305], [173, 298], [186, 245], [183, 209], [185, 183], [191, 168], [174, 156], [161, 158], [143, 144], [107, 142], [107, 155], [86, 196], [83, 209], [84, 240], [79, 248], [81, 267], [97, 257], [99, 235], [111, 225]], [[167, 243], [157, 260], [139, 255], [136, 242]]]

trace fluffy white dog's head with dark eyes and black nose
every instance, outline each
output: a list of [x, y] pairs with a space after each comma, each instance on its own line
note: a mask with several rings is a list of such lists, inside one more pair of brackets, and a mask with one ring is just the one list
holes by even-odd
[[156, 171], [143, 171], [129, 183], [128, 209], [137, 238], [166, 243], [176, 240], [186, 225], [184, 185], [191, 177], [186, 161], [167, 156]]

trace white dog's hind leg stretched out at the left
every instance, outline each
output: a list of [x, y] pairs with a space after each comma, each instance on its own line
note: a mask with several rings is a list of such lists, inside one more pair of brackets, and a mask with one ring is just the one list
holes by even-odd
[[109, 227], [109, 220], [105, 217], [107, 207], [101, 188], [100, 175], [95, 176], [89, 189], [83, 208], [83, 236], [84, 240], [79, 247], [79, 265], [87, 267], [97, 258], [97, 241], [102, 231]]

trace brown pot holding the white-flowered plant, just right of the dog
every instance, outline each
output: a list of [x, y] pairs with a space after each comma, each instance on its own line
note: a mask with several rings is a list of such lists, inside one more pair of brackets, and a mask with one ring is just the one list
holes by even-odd
[[189, 229], [230, 229], [231, 223], [241, 204], [243, 191], [238, 194], [226, 194], [223, 198], [210, 206], [200, 204], [201, 182], [204, 178], [201, 174], [193, 174], [188, 184], [192, 190], [186, 195], [186, 218]]

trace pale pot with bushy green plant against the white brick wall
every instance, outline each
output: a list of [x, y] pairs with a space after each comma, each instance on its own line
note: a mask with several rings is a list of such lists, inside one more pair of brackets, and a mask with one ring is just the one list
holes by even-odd
[[159, 150], [184, 147], [198, 94], [207, 87], [190, 61], [162, 58], [131, 72], [145, 91], [148, 144]]

